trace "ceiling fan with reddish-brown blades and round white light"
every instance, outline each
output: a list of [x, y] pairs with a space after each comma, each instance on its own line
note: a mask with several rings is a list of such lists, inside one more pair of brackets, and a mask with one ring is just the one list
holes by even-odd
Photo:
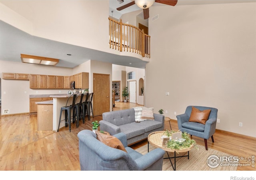
[[154, 2], [175, 6], [177, 4], [177, 1], [178, 0], [134, 0], [132, 2], [129, 2], [128, 4], [125, 4], [124, 6], [116, 8], [116, 10], [120, 11], [136, 4], [138, 7], [143, 9], [144, 19], [148, 19], [149, 18], [148, 8], [152, 6]]

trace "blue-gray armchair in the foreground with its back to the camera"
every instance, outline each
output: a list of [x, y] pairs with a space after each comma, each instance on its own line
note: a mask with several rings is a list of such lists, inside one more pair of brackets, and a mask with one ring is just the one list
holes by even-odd
[[164, 150], [157, 148], [142, 155], [127, 147], [124, 133], [114, 136], [122, 142], [128, 153], [100, 142], [90, 130], [78, 133], [81, 170], [162, 170]]

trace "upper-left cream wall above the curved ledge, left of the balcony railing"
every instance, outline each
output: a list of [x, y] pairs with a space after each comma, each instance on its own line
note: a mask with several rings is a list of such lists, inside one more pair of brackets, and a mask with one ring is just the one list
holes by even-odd
[[34, 36], [108, 52], [108, 6], [107, 0], [1, 1], [0, 20]]

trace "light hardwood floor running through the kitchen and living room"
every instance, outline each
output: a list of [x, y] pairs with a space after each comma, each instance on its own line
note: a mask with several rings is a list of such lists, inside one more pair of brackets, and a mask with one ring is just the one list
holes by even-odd
[[[138, 106], [134, 103], [116, 102], [114, 110]], [[80, 121], [79, 128], [72, 124], [59, 132], [38, 131], [36, 114], [20, 114], [0, 117], [0, 170], [80, 170], [77, 134], [92, 128], [92, 120], [102, 120], [95, 116], [86, 123]], [[171, 120], [172, 130], [178, 130], [176, 120]], [[165, 122], [164, 129], [170, 130]], [[204, 140], [194, 137], [197, 144], [204, 146]], [[136, 149], [147, 144], [147, 140], [132, 145]], [[256, 155], [256, 138], [216, 130], [214, 143], [208, 140], [208, 148], [226, 152], [233, 156]], [[238, 170], [256, 170], [238, 167]]]

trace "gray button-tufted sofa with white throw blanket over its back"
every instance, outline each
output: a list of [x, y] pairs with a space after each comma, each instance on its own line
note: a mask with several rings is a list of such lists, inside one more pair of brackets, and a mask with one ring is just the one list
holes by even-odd
[[148, 138], [148, 134], [164, 130], [164, 116], [154, 114], [154, 120], [135, 122], [135, 110], [125, 109], [102, 114], [100, 130], [109, 132], [110, 135], [123, 132], [126, 134], [128, 145]]

